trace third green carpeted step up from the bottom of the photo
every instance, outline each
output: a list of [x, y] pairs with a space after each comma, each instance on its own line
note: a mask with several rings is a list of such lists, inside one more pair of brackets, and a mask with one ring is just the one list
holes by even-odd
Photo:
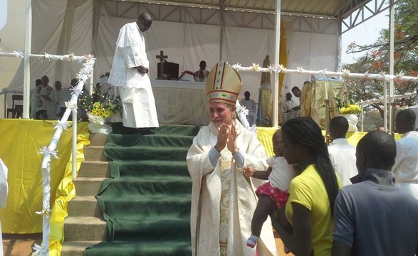
[[190, 215], [190, 193], [177, 195], [105, 195], [101, 200], [106, 202], [106, 213], [113, 218], [125, 215], [143, 217], [179, 218]]

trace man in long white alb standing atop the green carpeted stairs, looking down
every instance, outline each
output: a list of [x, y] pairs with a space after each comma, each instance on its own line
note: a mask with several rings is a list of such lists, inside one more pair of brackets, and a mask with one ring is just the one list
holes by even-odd
[[159, 127], [143, 35], [151, 24], [151, 16], [143, 13], [136, 22], [120, 28], [116, 41], [108, 83], [118, 89], [127, 129]]

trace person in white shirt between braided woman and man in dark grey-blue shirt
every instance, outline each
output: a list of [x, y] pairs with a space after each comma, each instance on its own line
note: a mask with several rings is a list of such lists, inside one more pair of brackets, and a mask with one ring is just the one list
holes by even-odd
[[345, 117], [331, 119], [330, 139], [333, 142], [328, 146], [328, 153], [343, 186], [350, 185], [350, 178], [358, 174], [355, 166], [355, 147], [348, 144], [345, 139], [347, 131], [348, 121]]

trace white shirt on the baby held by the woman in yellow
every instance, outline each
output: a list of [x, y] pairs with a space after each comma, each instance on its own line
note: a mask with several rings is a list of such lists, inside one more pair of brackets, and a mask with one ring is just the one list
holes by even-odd
[[268, 176], [271, 186], [281, 191], [288, 191], [292, 178], [297, 175], [293, 167], [288, 164], [283, 156], [273, 156], [267, 159], [267, 164], [272, 169]]

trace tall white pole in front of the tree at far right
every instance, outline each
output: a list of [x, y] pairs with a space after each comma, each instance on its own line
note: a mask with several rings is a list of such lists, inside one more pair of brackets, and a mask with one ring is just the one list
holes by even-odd
[[[395, 4], [390, 0], [389, 11], [389, 74], [394, 75], [394, 41], [395, 41]], [[389, 102], [393, 102], [395, 94], [393, 80], [389, 82]], [[392, 104], [389, 105], [389, 113], [392, 113]], [[392, 114], [389, 116], [389, 132], [393, 132]]]

